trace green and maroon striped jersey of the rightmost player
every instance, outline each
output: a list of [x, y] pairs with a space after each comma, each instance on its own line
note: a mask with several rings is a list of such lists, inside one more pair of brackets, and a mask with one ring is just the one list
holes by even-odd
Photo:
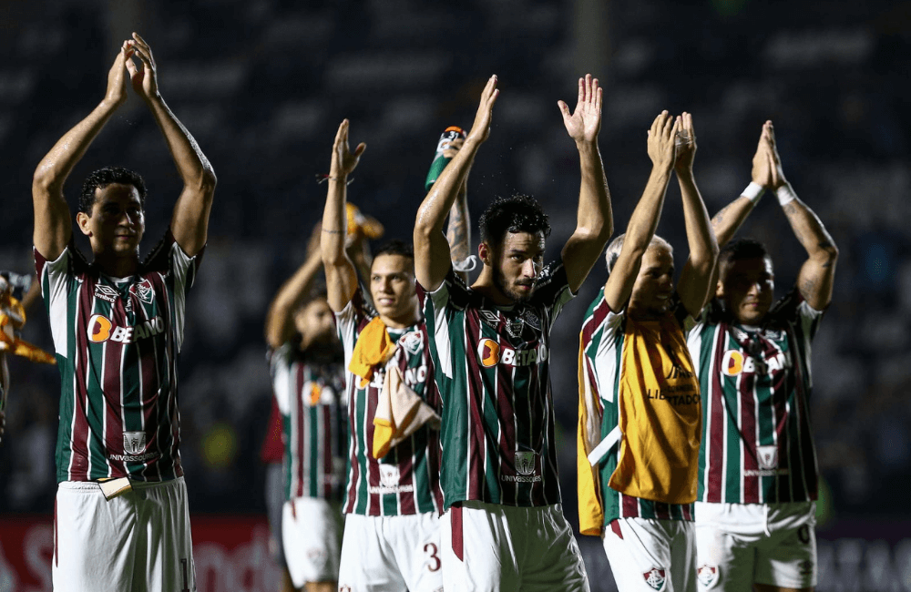
[[822, 311], [793, 289], [761, 327], [711, 301], [687, 344], [702, 393], [699, 500], [774, 504], [816, 499], [810, 342]]

